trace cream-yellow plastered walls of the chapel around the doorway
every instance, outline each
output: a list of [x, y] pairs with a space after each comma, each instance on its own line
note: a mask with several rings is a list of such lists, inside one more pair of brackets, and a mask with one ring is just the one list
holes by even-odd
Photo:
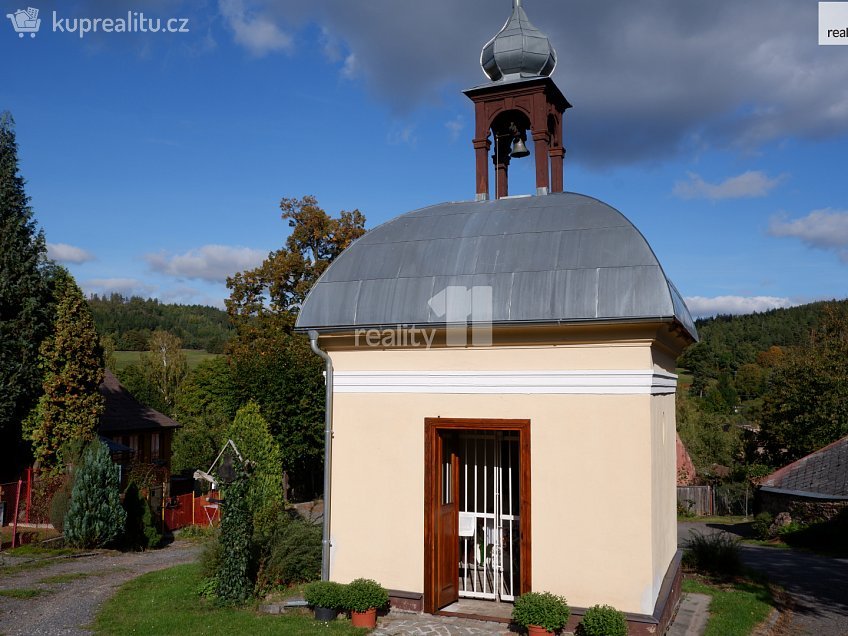
[[[654, 365], [649, 343], [331, 355], [337, 371]], [[337, 393], [331, 578], [365, 576], [423, 592], [424, 419], [529, 419], [533, 589], [562, 594], [575, 606], [651, 613], [676, 537], [668, 533], [673, 501], [665, 519], [665, 455], [675, 461], [673, 396], [663, 419], [668, 403], [650, 395]], [[671, 446], [656, 448], [669, 422]], [[671, 479], [673, 495], [673, 468]]]

